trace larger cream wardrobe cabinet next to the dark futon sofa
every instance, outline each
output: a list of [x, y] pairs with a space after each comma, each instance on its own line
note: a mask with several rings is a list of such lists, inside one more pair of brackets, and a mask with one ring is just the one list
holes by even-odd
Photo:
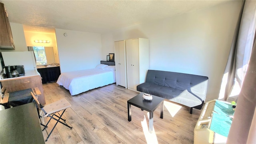
[[145, 38], [126, 40], [127, 85], [137, 91], [137, 86], [146, 80], [149, 68], [149, 41]]

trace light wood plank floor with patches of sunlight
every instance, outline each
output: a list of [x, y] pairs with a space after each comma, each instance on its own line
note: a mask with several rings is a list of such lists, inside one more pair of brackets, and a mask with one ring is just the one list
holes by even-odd
[[[201, 110], [164, 102], [164, 118], [160, 107], [154, 111], [154, 131], [148, 132], [148, 112], [131, 107], [128, 122], [127, 100], [138, 93], [116, 84], [89, 90], [76, 96], [55, 82], [43, 84], [46, 104], [66, 98], [72, 105], [64, 113], [70, 129], [57, 124], [46, 144], [193, 144], [194, 127]], [[46, 121], [47, 118], [45, 118]], [[48, 126], [48, 131], [53, 122]], [[46, 132], [43, 131], [44, 138]]]

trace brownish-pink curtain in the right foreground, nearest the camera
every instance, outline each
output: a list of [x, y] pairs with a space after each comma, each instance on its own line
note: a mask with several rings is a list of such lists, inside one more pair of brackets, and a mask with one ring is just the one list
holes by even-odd
[[238, 96], [227, 144], [256, 144], [256, 42]]

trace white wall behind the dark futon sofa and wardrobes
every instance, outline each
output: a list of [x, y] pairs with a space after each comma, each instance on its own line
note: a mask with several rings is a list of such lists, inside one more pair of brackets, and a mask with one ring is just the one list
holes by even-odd
[[102, 34], [102, 59], [114, 41], [148, 38], [150, 69], [209, 77], [208, 100], [218, 99], [241, 1]]

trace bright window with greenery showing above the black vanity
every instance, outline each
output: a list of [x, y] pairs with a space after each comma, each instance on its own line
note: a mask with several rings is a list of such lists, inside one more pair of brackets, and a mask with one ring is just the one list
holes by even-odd
[[36, 57], [36, 65], [47, 64], [44, 46], [33, 46], [33, 50]]

